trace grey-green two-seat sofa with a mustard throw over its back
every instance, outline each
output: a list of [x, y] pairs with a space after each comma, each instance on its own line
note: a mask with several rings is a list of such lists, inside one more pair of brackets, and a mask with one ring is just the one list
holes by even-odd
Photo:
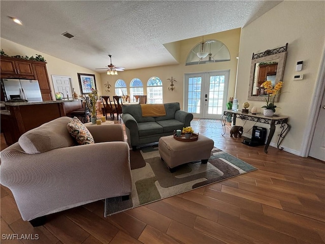
[[190, 126], [193, 114], [181, 110], [178, 102], [165, 103], [164, 106], [166, 116], [159, 117], [143, 117], [140, 104], [122, 106], [122, 120], [133, 150], [143, 144], [158, 142], [161, 136], [173, 135], [174, 130]]

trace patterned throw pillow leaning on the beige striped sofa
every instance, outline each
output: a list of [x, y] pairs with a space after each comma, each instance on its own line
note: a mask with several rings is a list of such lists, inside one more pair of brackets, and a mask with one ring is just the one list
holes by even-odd
[[67, 125], [69, 133], [76, 139], [79, 145], [95, 143], [87, 127], [74, 117]]

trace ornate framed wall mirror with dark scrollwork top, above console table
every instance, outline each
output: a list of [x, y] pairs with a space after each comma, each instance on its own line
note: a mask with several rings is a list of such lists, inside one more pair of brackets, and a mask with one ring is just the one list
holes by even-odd
[[[248, 100], [265, 101], [265, 97], [268, 95], [264, 93], [262, 83], [271, 80], [272, 84], [275, 85], [282, 80], [287, 46], [288, 44], [265, 52], [253, 53], [250, 65]], [[280, 95], [276, 96], [275, 102], [279, 101], [279, 97]]]

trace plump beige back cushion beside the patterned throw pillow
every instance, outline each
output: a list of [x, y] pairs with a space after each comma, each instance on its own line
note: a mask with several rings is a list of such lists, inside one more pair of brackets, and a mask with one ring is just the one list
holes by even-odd
[[67, 131], [70, 117], [59, 117], [35, 129], [25, 132], [18, 140], [26, 154], [39, 154], [55, 148], [74, 145]]

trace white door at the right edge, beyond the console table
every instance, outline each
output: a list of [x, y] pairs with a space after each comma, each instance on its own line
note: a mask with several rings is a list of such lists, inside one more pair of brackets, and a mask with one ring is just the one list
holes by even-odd
[[317, 117], [314, 136], [311, 142], [309, 156], [325, 161], [325, 93], [321, 101], [321, 107]]

